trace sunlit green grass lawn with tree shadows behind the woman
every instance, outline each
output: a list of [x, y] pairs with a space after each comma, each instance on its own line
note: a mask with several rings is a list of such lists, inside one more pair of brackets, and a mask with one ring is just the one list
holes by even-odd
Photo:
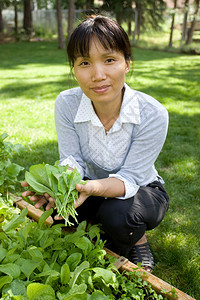
[[[200, 58], [142, 49], [133, 53], [127, 83], [159, 100], [170, 117], [156, 167], [171, 203], [161, 225], [148, 232], [153, 274], [200, 299]], [[28, 169], [59, 158], [54, 102], [60, 91], [75, 86], [57, 43], [0, 46], [1, 133], [25, 146], [16, 163]]]

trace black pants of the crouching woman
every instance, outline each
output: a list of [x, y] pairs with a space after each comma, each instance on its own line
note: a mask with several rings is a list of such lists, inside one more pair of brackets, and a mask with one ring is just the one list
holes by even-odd
[[167, 192], [160, 182], [154, 181], [125, 200], [89, 197], [77, 208], [78, 221], [101, 223], [112, 250], [127, 256], [146, 230], [159, 225], [168, 206]]

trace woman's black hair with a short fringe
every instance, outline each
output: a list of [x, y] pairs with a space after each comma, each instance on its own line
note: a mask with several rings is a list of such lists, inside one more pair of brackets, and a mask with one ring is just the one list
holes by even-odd
[[88, 57], [90, 42], [97, 37], [105, 49], [120, 51], [125, 60], [131, 59], [131, 45], [127, 33], [113, 19], [102, 15], [90, 15], [73, 31], [67, 45], [71, 67], [78, 56]]

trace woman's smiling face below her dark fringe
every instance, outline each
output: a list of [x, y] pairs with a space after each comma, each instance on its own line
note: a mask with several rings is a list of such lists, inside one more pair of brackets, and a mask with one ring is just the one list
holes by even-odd
[[89, 57], [77, 57], [74, 62], [76, 79], [94, 106], [122, 100], [125, 75], [130, 70], [122, 52], [105, 49], [98, 39], [90, 45]]

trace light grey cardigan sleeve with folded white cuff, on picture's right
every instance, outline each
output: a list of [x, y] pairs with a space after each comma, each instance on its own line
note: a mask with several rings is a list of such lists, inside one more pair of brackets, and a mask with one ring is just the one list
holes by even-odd
[[158, 173], [154, 163], [164, 145], [167, 129], [168, 112], [163, 106], [159, 109], [148, 106], [141, 112], [141, 123], [134, 126], [132, 143], [122, 167], [116, 174], [109, 175], [125, 184], [125, 196], [119, 199], [134, 196], [140, 186], [156, 180]]

